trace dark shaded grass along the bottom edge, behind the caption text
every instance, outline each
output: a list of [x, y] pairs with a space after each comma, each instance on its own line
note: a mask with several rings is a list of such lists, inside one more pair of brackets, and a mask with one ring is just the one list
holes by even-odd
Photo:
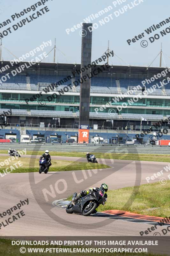
[[[96, 239], [97, 240], [97, 237]], [[20, 253], [19, 252], [19, 249], [20, 247], [23, 247], [22, 245], [11, 245], [11, 240], [10, 239], [3, 239], [3, 238], [0, 238], [0, 256], [21, 256], [21, 255], [25, 255], [25, 256], [35, 256], [35, 255], [39, 255], [39, 256], [65, 256], [66, 254], [65, 253], [38, 253], [38, 252], [34, 252], [34, 253]], [[48, 246], [25, 246], [25, 248], [63, 248], [63, 247], [66, 247], [66, 246], [55, 246], [55, 245], [48, 245]], [[68, 247], [68, 246], [67, 246]], [[71, 247], [71, 246], [70, 246]], [[122, 256], [153, 256], [153, 255], [157, 255], [157, 256], [165, 256], [163, 254], [152, 254], [152, 253], [105, 253], [105, 254], [102, 254], [102, 253], [67, 253], [67, 256], [73, 256], [73, 255], [76, 255], [76, 256], [101, 256], [101, 255], [106, 255], [106, 256], [117, 256], [117, 255], [122, 255]]]

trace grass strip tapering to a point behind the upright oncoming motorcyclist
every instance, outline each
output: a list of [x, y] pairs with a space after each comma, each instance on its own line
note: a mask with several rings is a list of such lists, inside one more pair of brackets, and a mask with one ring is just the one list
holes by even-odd
[[[33, 158], [26, 158], [26, 157], [20, 157], [18, 159], [15, 159], [11, 162], [7, 162], [7, 159], [9, 157], [2, 156], [1, 157], [1, 163], [4, 162], [5, 165], [0, 167], [0, 172], [4, 173], [3, 170], [5, 170], [7, 167], [9, 168], [7, 171], [9, 172], [11, 169], [10, 166], [14, 167], [12, 169], [13, 173], [18, 172], [38, 172], [39, 171], [39, 160], [33, 159]], [[22, 166], [19, 167], [19, 163], [22, 164]], [[17, 163], [15, 166], [14, 164]], [[18, 168], [17, 168], [18, 167]], [[77, 171], [77, 170], [92, 170], [92, 169], [105, 169], [110, 168], [110, 166], [105, 164], [96, 164], [96, 163], [83, 163], [78, 161], [66, 161], [66, 160], [52, 160], [52, 165], [49, 168], [50, 172], [61, 172], [61, 171]]]

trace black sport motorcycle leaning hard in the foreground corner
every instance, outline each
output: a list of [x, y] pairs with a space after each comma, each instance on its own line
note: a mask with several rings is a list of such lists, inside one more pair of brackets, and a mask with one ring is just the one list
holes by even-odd
[[77, 196], [77, 193], [73, 194], [72, 201], [66, 207], [67, 213], [78, 213], [88, 216], [92, 213], [95, 213], [95, 209], [103, 204], [104, 201], [104, 191], [98, 193], [97, 191], [90, 192], [88, 195], [81, 197], [76, 204], [74, 204], [74, 199]]

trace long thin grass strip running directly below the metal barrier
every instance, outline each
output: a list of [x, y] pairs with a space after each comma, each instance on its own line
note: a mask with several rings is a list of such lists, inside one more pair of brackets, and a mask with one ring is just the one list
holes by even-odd
[[[118, 150], [118, 149], [117, 149]], [[7, 154], [7, 150], [0, 150], [0, 154]], [[27, 155], [42, 155], [44, 151], [26, 151]], [[106, 159], [122, 159], [122, 160], [138, 160], [138, 161], [155, 161], [155, 162], [169, 162], [169, 155], [155, 155], [155, 154], [128, 154], [126, 152], [122, 153], [99, 153], [91, 152], [97, 158]], [[85, 152], [55, 152], [50, 151], [51, 156], [70, 156], [70, 157], [85, 157]]]

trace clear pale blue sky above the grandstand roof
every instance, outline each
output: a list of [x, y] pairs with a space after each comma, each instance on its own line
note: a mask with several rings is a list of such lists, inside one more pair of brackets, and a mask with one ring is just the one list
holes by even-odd
[[[125, 0], [122, 0], [125, 1]], [[136, 3], [139, 0], [136, 0]], [[7, 19], [11, 19], [11, 15], [15, 12], [20, 13], [23, 9], [38, 3], [38, 0], [0, 0], [0, 23]], [[119, 12], [119, 9], [127, 4], [132, 7], [131, 2], [134, 0], [126, 0], [122, 4], [114, 6], [114, 1], [104, 0], [86, 0], [86, 1], [57, 1], [49, 0], [44, 6], [48, 6], [49, 12], [45, 13], [36, 20], [26, 23], [22, 28], [13, 31], [8, 36], [4, 37], [3, 45], [8, 48], [15, 56], [20, 57], [22, 54], [29, 52], [39, 46], [43, 41], [52, 40], [54, 46], [54, 38], [56, 37], [56, 47], [60, 51], [56, 51], [56, 59], [59, 63], [80, 63], [81, 60], [81, 37], [78, 28], [74, 32], [66, 33], [67, 28], [72, 28], [74, 25], [82, 22], [91, 14], [96, 14], [105, 9], [109, 5], [112, 10], [96, 18], [93, 23], [97, 23], [99, 27], [92, 32], [92, 61], [98, 59], [106, 50], [107, 42], [110, 41], [110, 50], [114, 50], [122, 60], [117, 57], [110, 58], [109, 64], [125, 65], [125, 63], [134, 66], [148, 66], [157, 56], [160, 51], [161, 43], [163, 44], [163, 53], [170, 57], [169, 43], [170, 33], [166, 36], [161, 36], [160, 31], [165, 28], [170, 28], [170, 23], [157, 29], [151, 35], [147, 35], [144, 30], [153, 24], [159, 24], [161, 21], [170, 18], [168, 0], [145, 0], [143, 3], [135, 6], [134, 8], [127, 9], [127, 12], [115, 16], [114, 12]], [[120, 2], [120, 0], [119, 0]], [[36, 11], [39, 11], [44, 6], [39, 6]], [[125, 7], [126, 8], [126, 7]], [[0, 29], [2, 33], [6, 28], [12, 27], [20, 20], [33, 14], [32, 11], [25, 14], [23, 17], [12, 21], [9, 25]], [[99, 21], [106, 16], [112, 14], [113, 20], [101, 26]], [[137, 42], [128, 45], [127, 40], [144, 32], [144, 38], [139, 39]], [[150, 36], [159, 34], [160, 38], [155, 40], [152, 44], [149, 41]], [[146, 48], [141, 47], [142, 40], [148, 41]], [[52, 47], [46, 48], [47, 53]], [[63, 52], [63, 54], [61, 53]], [[164, 56], [162, 66], [170, 66], [170, 58]], [[13, 57], [3, 49], [3, 59], [11, 60]], [[28, 59], [28, 60], [31, 60]], [[46, 62], [53, 62], [53, 53], [50, 53]], [[165, 62], [164, 62], [165, 61]], [[159, 59], [155, 60], [152, 67], [159, 66]]]

